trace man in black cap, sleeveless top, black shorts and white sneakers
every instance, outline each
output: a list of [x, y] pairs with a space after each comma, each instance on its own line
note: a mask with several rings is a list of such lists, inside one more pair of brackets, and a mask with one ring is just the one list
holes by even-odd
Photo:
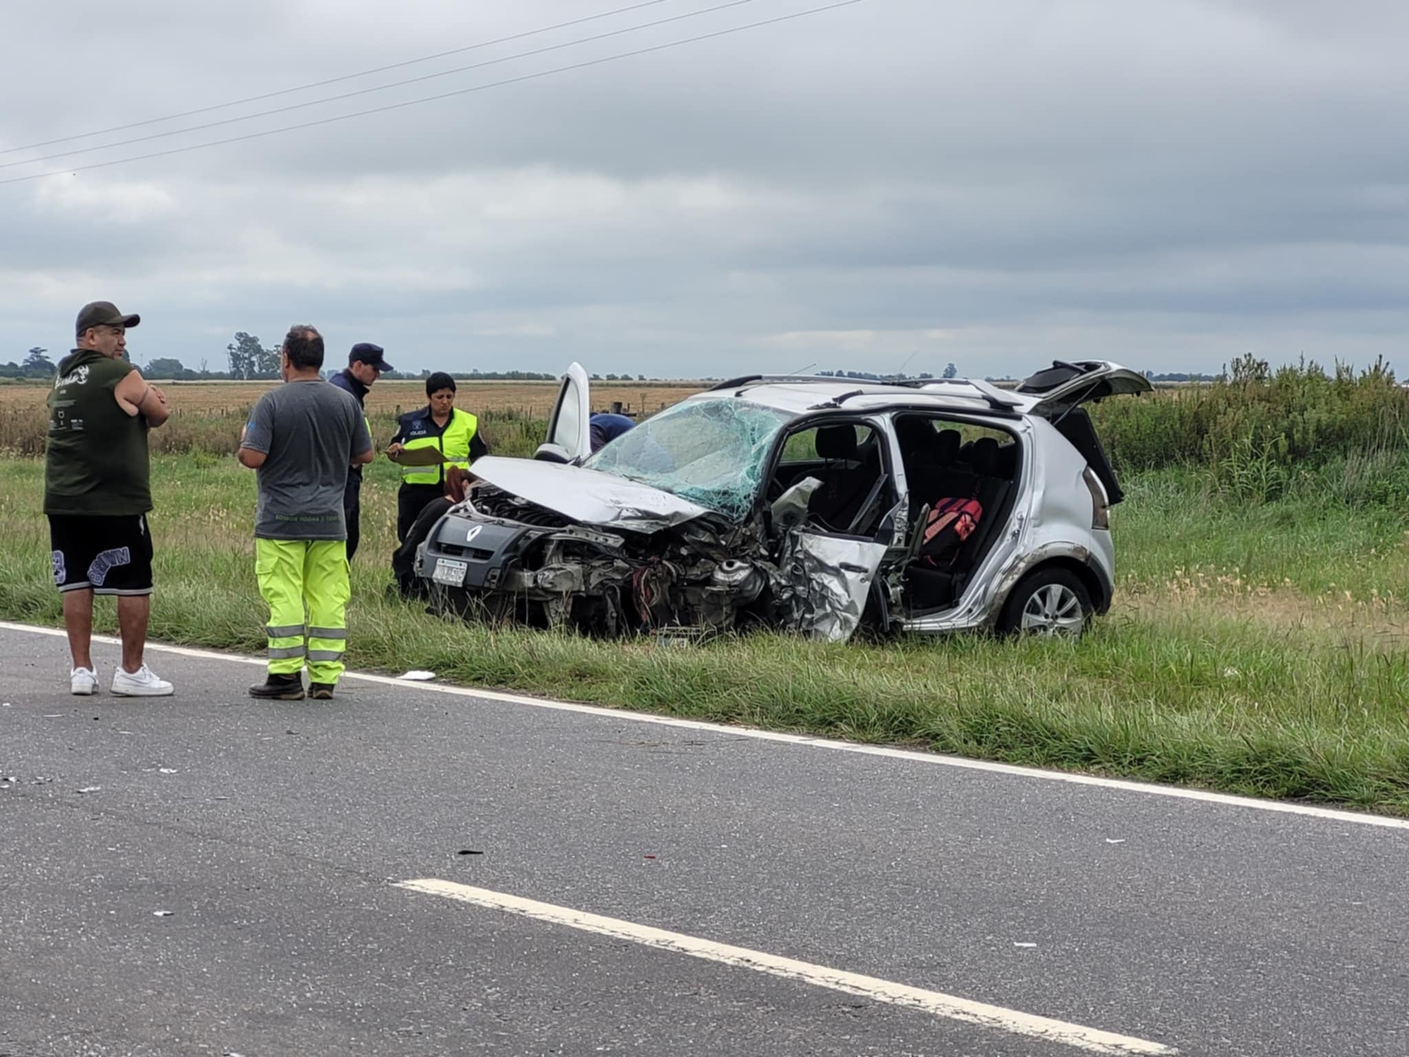
[[44, 513], [54, 585], [63, 595], [73, 693], [97, 692], [93, 596], [117, 596], [123, 662], [111, 692], [162, 698], [172, 685], [142, 662], [152, 612], [152, 509], [147, 431], [166, 421], [166, 396], [124, 361], [127, 331], [141, 323], [111, 302], [85, 304], [76, 348], [49, 390]]

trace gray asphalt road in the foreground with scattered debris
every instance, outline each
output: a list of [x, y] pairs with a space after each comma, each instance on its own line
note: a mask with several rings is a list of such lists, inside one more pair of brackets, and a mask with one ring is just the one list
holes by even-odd
[[1099, 1051], [1023, 1015], [1409, 1054], [1405, 827], [416, 684], [258, 703], [258, 665], [155, 650], [176, 698], [73, 698], [62, 638], [0, 645], [0, 1057]]

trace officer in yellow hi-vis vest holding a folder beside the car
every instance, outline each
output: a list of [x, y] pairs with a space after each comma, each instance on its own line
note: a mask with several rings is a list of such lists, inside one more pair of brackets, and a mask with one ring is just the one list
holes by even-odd
[[437, 371], [426, 379], [427, 404], [407, 412], [397, 420], [386, 454], [402, 461], [403, 452], [434, 448], [440, 459], [431, 465], [402, 464], [402, 488], [396, 493], [396, 541], [406, 543], [416, 517], [433, 499], [445, 493], [451, 466], [469, 469], [475, 459], [489, 454], [479, 435], [479, 419], [455, 407], [455, 379]]

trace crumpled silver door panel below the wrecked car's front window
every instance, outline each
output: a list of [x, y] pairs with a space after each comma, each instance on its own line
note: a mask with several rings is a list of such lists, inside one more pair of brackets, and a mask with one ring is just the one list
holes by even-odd
[[851, 638], [885, 554], [883, 543], [790, 534], [783, 576], [792, 588], [793, 627], [827, 643]]

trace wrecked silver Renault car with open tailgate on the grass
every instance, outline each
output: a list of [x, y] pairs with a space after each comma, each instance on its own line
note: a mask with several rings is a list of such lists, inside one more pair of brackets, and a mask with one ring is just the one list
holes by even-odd
[[1107, 362], [1012, 392], [738, 378], [590, 452], [573, 364], [535, 458], [475, 462], [417, 575], [438, 610], [593, 636], [1079, 634], [1122, 497], [1084, 404], [1148, 389]]

